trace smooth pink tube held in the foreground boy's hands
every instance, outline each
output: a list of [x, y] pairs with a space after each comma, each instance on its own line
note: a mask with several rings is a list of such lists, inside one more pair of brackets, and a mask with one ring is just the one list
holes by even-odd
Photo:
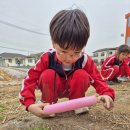
[[60, 103], [46, 106], [44, 107], [44, 112], [49, 115], [54, 113], [62, 113], [66, 111], [75, 110], [81, 107], [91, 106], [96, 103], [97, 103], [96, 96], [77, 98], [77, 99], [68, 100], [65, 102], [60, 102]]

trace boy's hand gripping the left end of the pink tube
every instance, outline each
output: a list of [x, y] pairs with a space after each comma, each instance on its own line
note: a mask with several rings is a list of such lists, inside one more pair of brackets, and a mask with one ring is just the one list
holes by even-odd
[[42, 104], [31, 104], [28, 107], [28, 111], [38, 117], [48, 117], [49, 115], [44, 113], [44, 107], [49, 105], [49, 103], [42, 103]]

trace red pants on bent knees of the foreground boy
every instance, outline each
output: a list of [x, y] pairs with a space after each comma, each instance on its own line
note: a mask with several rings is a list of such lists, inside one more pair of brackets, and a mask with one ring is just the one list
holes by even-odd
[[83, 69], [76, 70], [67, 80], [54, 70], [48, 69], [41, 74], [38, 82], [42, 92], [41, 100], [47, 103], [56, 103], [58, 98], [63, 97], [69, 99], [84, 97], [89, 86], [89, 75]]

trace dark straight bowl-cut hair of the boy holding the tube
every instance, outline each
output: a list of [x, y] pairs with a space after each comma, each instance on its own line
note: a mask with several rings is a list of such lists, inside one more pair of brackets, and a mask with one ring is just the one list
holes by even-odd
[[85, 13], [79, 9], [58, 12], [50, 22], [50, 35], [52, 41], [63, 49], [82, 49], [90, 35]]

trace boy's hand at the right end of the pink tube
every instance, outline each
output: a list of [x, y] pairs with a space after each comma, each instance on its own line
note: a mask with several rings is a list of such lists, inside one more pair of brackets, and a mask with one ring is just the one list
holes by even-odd
[[111, 110], [114, 107], [114, 102], [108, 95], [98, 96], [98, 102], [103, 102], [103, 105], [107, 110]]

